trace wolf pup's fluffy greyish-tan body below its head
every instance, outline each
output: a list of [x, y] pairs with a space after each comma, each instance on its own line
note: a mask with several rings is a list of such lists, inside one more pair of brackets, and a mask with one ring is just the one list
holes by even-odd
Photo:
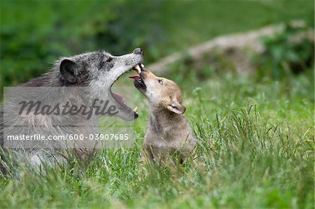
[[185, 161], [196, 141], [184, 115], [156, 108], [150, 108], [149, 114], [143, 156], [151, 161], [165, 161], [175, 154], [181, 163]]

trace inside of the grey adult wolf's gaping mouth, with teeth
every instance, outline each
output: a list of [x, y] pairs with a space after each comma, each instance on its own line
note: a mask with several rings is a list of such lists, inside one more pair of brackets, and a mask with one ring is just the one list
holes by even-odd
[[[144, 70], [144, 64], [137, 64], [136, 66], [134, 66], [132, 69], [130, 70], [134, 70], [134, 71], [137, 71], [138, 74], [141, 73], [141, 71]], [[125, 73], [123, 73], [125, 74]], [[122, 74], [122, 75], [123, 75]], [[122, 76], [120, 75], [120, 76]], [[120, 76], [115, 80], [115, 82], [120, 78]], [[139, 77], [140, 78], [140, 75], [133, 75], [133, 76], [130, 76], [130, 78], [136, 78], [136, 77]], [[113, 82], [113, 84], [115, 83]], [[111, 85], [111, 87], [113, 87], [113, 84]], [[118, 94], [116, 92], [112, 92], [112, 90], [110, 89], [110, 92], [111, 92], [111, 96], [113, 96], [113, 99], [115, 99], [118, 104], [124, 108], [125, 110], [132, 110], [132, 108], [128, 107], [127, 106], [127, 100], [125, 99], [124, 96], [122, 96], [121, 94]], [[137, 113], [137, 107], [134, 108], [134, 118], [137, 118], [138, 117], [138, 113]]]

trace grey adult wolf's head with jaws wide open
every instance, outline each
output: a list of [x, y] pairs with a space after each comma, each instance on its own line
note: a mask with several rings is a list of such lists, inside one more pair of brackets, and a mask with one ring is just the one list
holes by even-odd
[[120, 75], [141, 64], [143, 58], [144, 53], [140, 48], [118, 57], [99, 50], [63, 57], [56, 62], [55, 69], [59, 68], [57, 79], [62, 86], [90, 87], [92, 97], [108, 100], [111, 105], [116, 106], [116, 116], [123, 120], [134, 120], [138, 117], [137, 113], [126, 105], [123, 96], [113, 93], [111, 87]]

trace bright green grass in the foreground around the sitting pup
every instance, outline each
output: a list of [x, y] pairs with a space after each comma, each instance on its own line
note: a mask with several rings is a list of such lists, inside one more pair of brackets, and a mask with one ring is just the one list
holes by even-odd
[[195, 159], [169, 167], [139, 165], [148, 117], [132, 148], [103, 150], [78, 171], [49, 168], [0, 177], [0, 208], [314, 208], [314, 73], [281, 82], [192, 71], [174, 75], [198, 138]]

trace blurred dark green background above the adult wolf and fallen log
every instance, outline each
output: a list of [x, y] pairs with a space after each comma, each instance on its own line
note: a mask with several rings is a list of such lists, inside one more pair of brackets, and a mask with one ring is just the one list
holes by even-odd
[[304, 20], [314, 1], [1, 1], [1, 89], [45, 73], [55, 59], [136, 47], [145, 64], [227, 33]]

